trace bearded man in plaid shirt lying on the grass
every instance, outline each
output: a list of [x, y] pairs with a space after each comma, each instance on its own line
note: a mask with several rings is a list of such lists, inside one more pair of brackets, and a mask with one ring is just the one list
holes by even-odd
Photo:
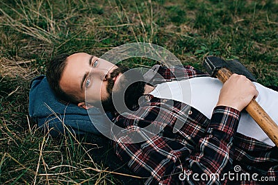
[[[276, 91], [236, 74], [222, 85], [190, 66], [155, 66], [151, 72], [158, 75], [147, 82], [139, 72], [125, 71], [96, 56], [75, 53], [54, 58], [47, 80], [59, 98], [115, 114], [113, 122], [124, 130], [111, 131], [115, 153], [146, 184], [234, 184], [227, 174], [236, 166], [237, 177], [256, 174], [256, 179], [237, 178], [241, 184], [278, 177], [278, 148], [243, 111], [257, 97], [277, 122]], [[188, 94], [190, 100], [183, 97]], [[123, 101], [115, 103], [117, 96]], [[140, 142], [133, 141], [134, 135]], [[220, 178], [196, 180], [211, 174]]]

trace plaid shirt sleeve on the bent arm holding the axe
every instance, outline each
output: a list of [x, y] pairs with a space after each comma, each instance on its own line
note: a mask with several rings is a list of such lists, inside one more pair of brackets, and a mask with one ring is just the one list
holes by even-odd
[[[115, 136], [116, 154], [136, 175], [145, 177], [146, 184], [222, 184], [222, 178], [201, 180], [201, 175], [210, 177], [211, 174], [218, 174], [221, 177], [231, 169], [231, 146], [239, 118], [240, 112], [236, 109], [215, 107], [204, 135], [196, 147], [189, 150], [186, 143], [181, 144], [161, 136], [161, 133], [152, 135], [143, 127], [136, 126], [138, 118], [122, 117], [117, 119], [117, 123], [127, 125], [126, 136]], [[166, 129], [171, 126], [156, 122], [152, 124]], [[140, 135], [142, 142], [132, 143], [132, 133]], [[199, 181], [196, 181], [196, 175]]]

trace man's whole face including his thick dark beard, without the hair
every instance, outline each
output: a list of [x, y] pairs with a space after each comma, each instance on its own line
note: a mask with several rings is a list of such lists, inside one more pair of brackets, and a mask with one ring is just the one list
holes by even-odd
[[76, 53], [67, 58], [60, 87], [66, 94], [77, 98], [79, 107], [101, 107], [102, 103], [105, 111], [113, 112], [115, 103], [112, 94], [120, 110], [126, 109], [125, 106], [131, 109], [144, 93], [143, 81], [139, 71], [117, 67], [87, 53]]

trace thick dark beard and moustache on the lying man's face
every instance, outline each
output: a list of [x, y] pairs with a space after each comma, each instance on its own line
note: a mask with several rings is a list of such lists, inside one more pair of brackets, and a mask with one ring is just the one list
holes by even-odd
[[[144, 94], [146, 82], [144, 82], [140, 71], [137, 69], [131, 70], [129, 71], [127, 67], [119, 66], [111, 73], [106, 87], [108, 98], [101, 100], [104, 111], [124, 112], [128, 109], [134, 110], [138, 108], [138, 100]], [[117, 90], [115, 90], [113, 89], [115, 85], [113, 78], [117, 78], [120, 73], [122, 73], [122, 76], [117, 79]], [[124, 101], [121, 100], [121, 97], [124, 97]]]

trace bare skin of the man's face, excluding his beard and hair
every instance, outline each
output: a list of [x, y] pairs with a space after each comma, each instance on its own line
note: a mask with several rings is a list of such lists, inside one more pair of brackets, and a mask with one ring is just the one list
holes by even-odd
[[[92, 105], [108, 98], [106, 87], [114, 69], [117, 66], [111, 62], [87, 53], [75, 53], [67, 58], [60, 87], [66, 94], [74, 95], [80, 107], [86, 108], [85, 93], [86, 101]], [[119, 77], [113, 78], [115, 83]]]

